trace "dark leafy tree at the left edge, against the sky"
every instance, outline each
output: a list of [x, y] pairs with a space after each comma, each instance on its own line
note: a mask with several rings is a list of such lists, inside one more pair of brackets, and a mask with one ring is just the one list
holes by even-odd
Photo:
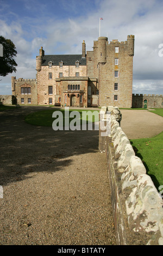
[[16, 57], [17, 51], [14, 43], [10, 39], [5, 39], [0, 36], [0, 44], [3, 46], [3, 57], [0, 57], [0, 76], [7, 76], [13, 71], [16, 72]]

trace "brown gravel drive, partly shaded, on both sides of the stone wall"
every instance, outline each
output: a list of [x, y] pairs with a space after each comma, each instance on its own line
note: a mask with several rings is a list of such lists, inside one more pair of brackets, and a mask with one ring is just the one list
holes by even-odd
[[[115, 245], [98, 131], [53, 131], [24, 122], [24, 115], [42, 109], [0, 113], [0, 245]], [[162, 120], [122, 110], [121, 126], [129, 138], [150, 137], [162, 131]]]

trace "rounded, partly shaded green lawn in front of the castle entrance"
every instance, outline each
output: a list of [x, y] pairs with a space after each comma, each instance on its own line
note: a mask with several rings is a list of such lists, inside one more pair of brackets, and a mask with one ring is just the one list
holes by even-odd
[[[65, 112], [65, 109], [59, 109], [59, 110], [54, 110], [54, 109], [48, 109], [48, 110], [45, 110], [45, 111], [38, 111], [38, 112], [34, 112], [34, 113], [31, 113], [29, 115], [27, 115], [25, 117], [25, 121], [28, 123], [28, 124], [32, 124], [32, 125], [38, 125], [38, 126], [52, 126], [53, 124], [53, 121], [55, 119], [58, 119], [58, 115], [56, 115], [55, 118], [52, 117], [53, 113], [54, 112], [59, 112], [61, 113], [61, 116], [63, 117], [63, 126], [65, 126], [65, 120], [67, 120], [67, 117], [68, 117], [68, 121], [69, 123], [73, 120], [73, 119], [76, 119], [76, 120], [79, 120], [80, 119], [80, 124], [82, 124], [82, 119], [85, 119], [86, 120], [86, 123], [88, 123], [89, 121], [98, 121], [98, 118], [95, 118], [94, 115], [92, 115], [92, 119], [88, 118], [88, 117], [84, 117], [83, 113], [82, 112], [86, 112], [87, 110], [80, 110], [80, 109], [73, 109], [73, 110], [69, 110], [69, 113], [66, 113]], [[79, 114], [79, 117], [76, 118], [76, 115], [69, 118], [69, 115], [75, 113], [74, 111], [77, 111]], [[87, 111], [88, 113], [89, 111]], [[90, 111], [91, 113], [93, 112], [97, 112], [97, 111]]]

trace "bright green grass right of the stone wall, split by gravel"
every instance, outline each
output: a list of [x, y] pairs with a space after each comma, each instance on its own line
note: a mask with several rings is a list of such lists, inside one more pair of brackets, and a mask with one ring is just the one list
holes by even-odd
[[[150, 111], [163, 117], [163, 108]], [[163, 130], [163, 127], [162, 127]], [[131, 139], [136, 156], [140, 157], [155, 187], [163, 185], [163, 131], [152, 138]]]

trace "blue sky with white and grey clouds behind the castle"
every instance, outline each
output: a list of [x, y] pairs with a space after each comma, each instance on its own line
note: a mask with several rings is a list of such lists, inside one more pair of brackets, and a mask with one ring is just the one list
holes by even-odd
[[160, 0], [0, 0], [0, 35], [17, 50], [17, 72], [0, 77], [0, 94], [11, 94], [11, 76], [35, 78], [35, 58], [91, 51], [101, 36], [126, 41], [135, 35], [133, 93], [163, 94], [163, 1]]

